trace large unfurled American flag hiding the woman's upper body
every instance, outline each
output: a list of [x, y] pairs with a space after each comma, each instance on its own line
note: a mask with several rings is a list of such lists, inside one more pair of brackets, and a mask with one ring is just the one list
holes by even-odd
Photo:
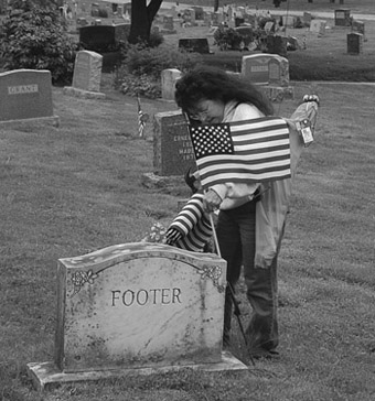
[[290, 177], [287, 122], [278, 117], [189, 126], [202, 186]]

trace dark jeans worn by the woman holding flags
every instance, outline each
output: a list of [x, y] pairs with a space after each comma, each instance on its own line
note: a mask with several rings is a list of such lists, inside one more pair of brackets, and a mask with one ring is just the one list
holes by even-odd
[[[244, 267], [247, 299], [253, 312], [246, 329], [250, 351], [274, 350], [279, 343], [277, 324], [277, 257], [270, 268], [255, 268], [256, 202], [235, 209], [221, 210], [217, 241], [222, 258], [227, 261], [227, 282], [234, 290]], [[229, 342], [233, 299], [227, 286], [224, 308], [224, 345]]]

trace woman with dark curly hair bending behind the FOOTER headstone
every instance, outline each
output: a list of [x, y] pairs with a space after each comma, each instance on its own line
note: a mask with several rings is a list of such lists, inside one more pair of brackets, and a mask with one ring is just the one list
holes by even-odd
[[[272, 115], [272, 105], [254, 85], [234, 74], [200, 67], [175, 86], [175, 101], [194, 123], [219, 123]], [[227, 261], [223, 346], [229, 345], [233, 294], [244, 268], [247, 297], [253, 307], [246, 330], [254, 358], [277, 356], [277, 256], [267, 269], [255, 265], [256, 204], [264, 189], [257, 183], [217, 184], [205, 193], [207, 212], [219, 208], [217, 240]]]

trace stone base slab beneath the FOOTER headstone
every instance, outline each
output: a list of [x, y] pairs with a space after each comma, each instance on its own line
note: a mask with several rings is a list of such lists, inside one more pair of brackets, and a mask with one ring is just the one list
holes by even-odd
[[33, 384], [38, 391], [47, 390], [49, 388], [53, 387], [53, 384], [66, 384], [77, 381], [95, 381], [130, 376], [133, 377], [152, 373], [164, 373], [169, 371], [179, 371], [186, 368], [207, 372], [224, 370], [248, 370], [248, 367], [235, 358], [229, 351], [222, 351], [222, 361], [216, 364], [164, 366], [160, 368], [114, 369], [64, 373], [58, 370], [54, 362], [30, 362], [26, 365], [28, 375], [32, 379]]

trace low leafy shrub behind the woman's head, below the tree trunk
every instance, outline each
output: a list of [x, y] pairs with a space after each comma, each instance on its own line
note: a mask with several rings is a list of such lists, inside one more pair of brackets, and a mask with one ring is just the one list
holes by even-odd
[[181, 72], [197, 63], [194, 54], [180, 52], [169, 46], [157, 48], [132, 45], [125, 55], [122, 65], [115, 71], [114, 86], [127, 95], [140, 94], [150, 98], [161, 96], [161, 72], [176, 68]]

